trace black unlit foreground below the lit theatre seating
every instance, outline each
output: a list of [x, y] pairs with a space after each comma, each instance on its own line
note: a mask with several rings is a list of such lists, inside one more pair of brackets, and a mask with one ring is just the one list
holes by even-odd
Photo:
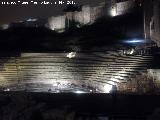
[[0, 120], [159, 120], [160, 96], [0, 93]]

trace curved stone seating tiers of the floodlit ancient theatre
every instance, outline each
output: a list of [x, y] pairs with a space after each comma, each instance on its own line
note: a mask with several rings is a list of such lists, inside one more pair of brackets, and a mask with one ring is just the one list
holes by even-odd
[[147, 70], [152, 55], [120, 55], [116, 51], [77, 53], [22, 53], [0, 57], [0, 86], [12, 90], [47, 91], [67, 85], [98, 85], [127, 82]]

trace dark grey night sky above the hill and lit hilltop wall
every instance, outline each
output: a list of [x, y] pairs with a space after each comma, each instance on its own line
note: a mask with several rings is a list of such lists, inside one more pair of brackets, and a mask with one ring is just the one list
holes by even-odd
[[[18, 1], [18, 0], [1, 0], [2, 1]], [[29, 1], [29, 0], [23, 0]], [[30, 0], [32, 1], [32, 0]], [[33, 0], [40, 1], [40, 0]], [[42, 1], [42, 0], [41, 0]], [[47, 1], [47, 0], [46, 0]], [[48, 0], [58, 1], [58, 0]], [[64, 0], [67, 1], [67, 0]], [[77, 5], [90, 4], [96, 5], [104, 0], [74, 0]], [[24, 20], [29, 17], [47, 18], [52, 15], [62, 14], [65, 5], [2, 5], [0, 4], [0, 24], [12, 21]]]

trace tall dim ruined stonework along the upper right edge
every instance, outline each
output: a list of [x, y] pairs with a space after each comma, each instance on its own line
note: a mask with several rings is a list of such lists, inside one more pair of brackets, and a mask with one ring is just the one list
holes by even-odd
[[160, 1], [145, 1], [144, 11], [145, 38], [151, 39], [160, 47]]

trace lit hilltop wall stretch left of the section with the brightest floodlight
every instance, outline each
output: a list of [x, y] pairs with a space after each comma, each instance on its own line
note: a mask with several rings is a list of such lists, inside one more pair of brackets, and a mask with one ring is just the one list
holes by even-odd
[[48, 27], [51, 30], [61, 30], [66, 27], [72, 27], [73, 23], [78, 23], [81, 26], [94, 23], [96, 19], [102, 16], [103, 6], [90, 7], [82, 6], [81, 11], [66, 12], [63, 16], [50, 17], [48, 19]]

